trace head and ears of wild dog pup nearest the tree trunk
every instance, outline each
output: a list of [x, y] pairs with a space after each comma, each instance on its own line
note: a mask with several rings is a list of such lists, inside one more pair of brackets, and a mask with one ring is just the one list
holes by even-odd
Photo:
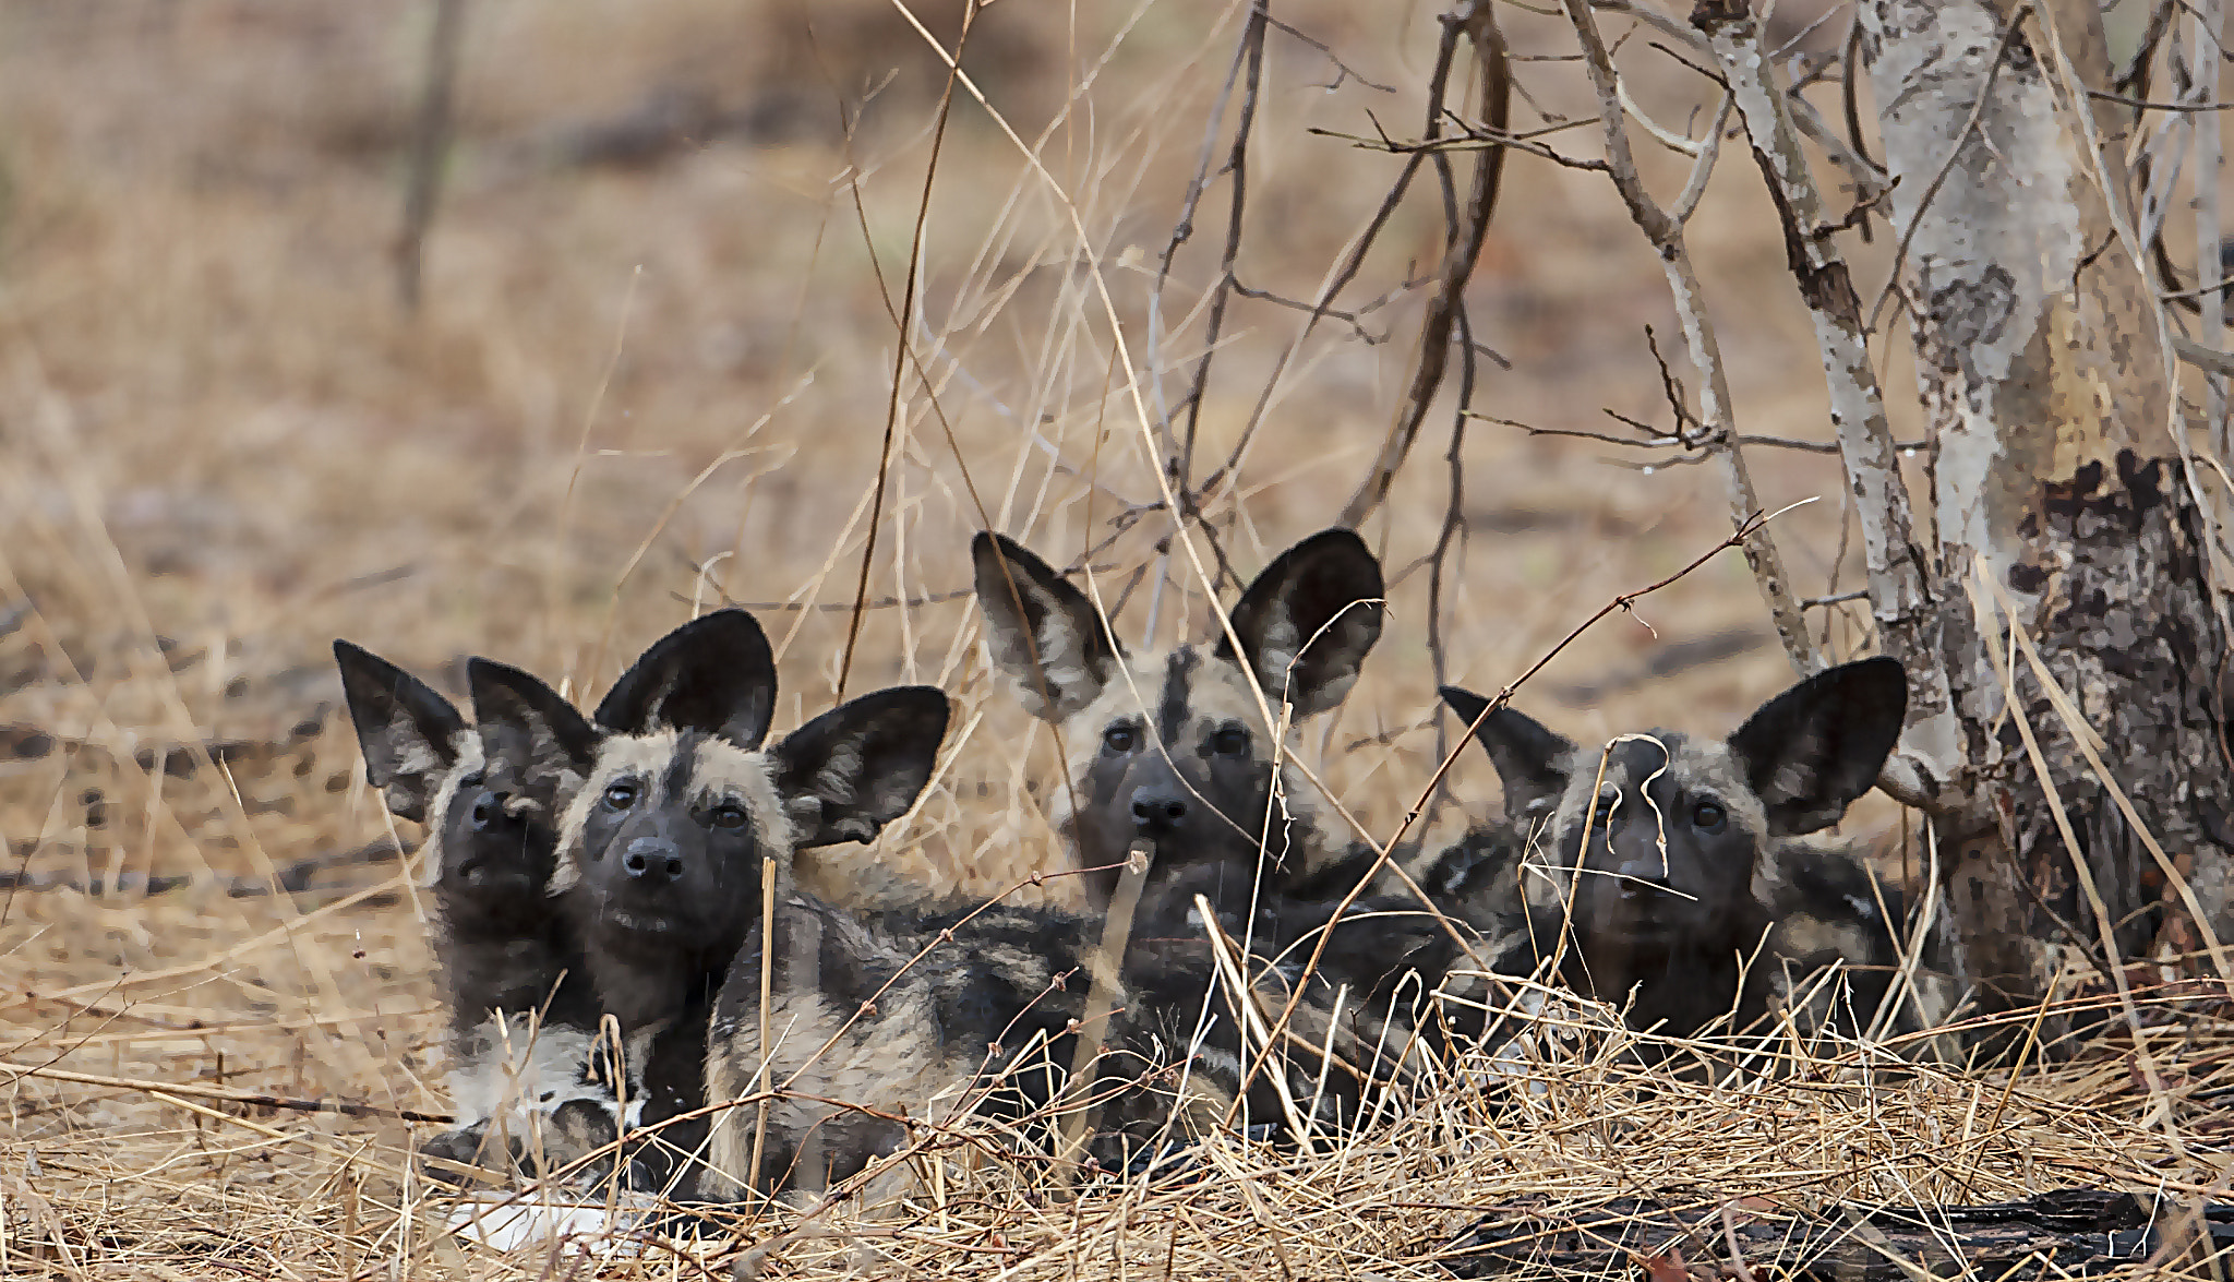
[[[1468, 721], [1488, 701], [1445, 688]], [[1722, 949], [1772, 911], [1760, 878], [1783, 842], [1836, 824], [1901, 733], [1908, 679], [1892, 659], [1830, 668], [1769, 699], [1727, 742], [1655, 730], [1577, 748], [1512, 708], [1474, 735], [1515, 822], [1544, 824], [1557, 858], [1524, 873], [1533, 909], [1573, 900], [1584, 951]], [[1588, 844], [1586, 844], [1588, 842]], [[1751, 947], [1756, 940], [1745, 940]]]

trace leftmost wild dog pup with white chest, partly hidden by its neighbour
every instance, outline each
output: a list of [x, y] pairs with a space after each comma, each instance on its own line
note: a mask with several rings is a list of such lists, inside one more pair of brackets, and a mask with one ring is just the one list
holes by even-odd
[[599, 1003], [570, 913], [543, 896], [558, 849], [550, 795], [420, 679], [349, 641], [333, 657], [371, 784], [395, 817], [427, 824], [458, 1121], [422, 1152], [536, 1173], [603, 1148], [619, 1114], [592, 1056]]

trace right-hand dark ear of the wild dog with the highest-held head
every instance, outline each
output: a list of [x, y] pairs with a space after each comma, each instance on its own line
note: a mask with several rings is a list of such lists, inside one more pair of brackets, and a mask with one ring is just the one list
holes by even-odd
[[[1356, 529], [1320, 529], [1289, 547], [1233, 605], [1233, 634], [1267, 699], [1296, 717], [1325, 712], [1381, 639], [1381, 563]], [[1218, 652], [1233, 659], [1233, 643]]]

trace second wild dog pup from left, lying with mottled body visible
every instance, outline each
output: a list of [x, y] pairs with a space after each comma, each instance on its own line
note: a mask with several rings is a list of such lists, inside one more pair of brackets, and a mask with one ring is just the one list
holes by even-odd
[[[675, 659], [675, 679], [661, 681], [666, 712], [648, 728], [592, 726], [521, 679], [518, 708], [503, 717], [534, 739], [550, 771], [581, 779], [563, 824], [558, 882], [579, 887], [585, 918], [596, 922], [590, 956], [599, 992], [630, 1027], [632, 1061], [655, 1090], [646, 1123], [697, 1106], [684, 1090], [661, 1101], [659, 1081], [679, 1081], [699, 1063], [706, 1070], [704, 1103], [715, 1106], [708, 1161], [717, 1177], [693, 1177], [690, 1190], [813, 1190], [891, 1152], [905, 1135], [898, 1112], [1025, 1117], [1043, 1106], [1075, 1054], [1092, 922], [1010, 907], [856, 916], [793, 882], [800, 849], [867, 842], [914, 804], [947, 728], [945, 695], [880, 690], [757, 748], [764, 712], [753, 706], [724, 715], [724, 704], [753, 697], [739, 668], [717, 663], [713, 652], [695, 666]], [[677, 717], [677, 708], [690, 712]], [[626, 726], [632, 717], [608, 701], [601, 719]], [[663, 724], [675, 719], [688, 728]], [[773, 918], [764, 876], [773, 878]], [[724, 956], [728, 976], [708, 1032], [704, 976]], [[1238, 1085], [1235, 1047], [1213, 1039], [1206, 1063], [1173, 1063], [1159, 1050], [1188, 1045], [1209, 974], [1202, 940], [1142, 940], [1130, 949], [1124, 1012], [1108, 1032], [1115, 1054], [1097, 1079], [1110, 1090], [1115, 1079], [1151, 1081], [1104, 1110], [1104, 1130], [1121, 1139], [1097, 1155], [1115, 1161], [1126, 1141], [1151, 1139], [1164, 1099], [1188, 1072], [1188, 1099], [1211, 1101], [1197, 1121], [1211, 1108], [1222, 1117], [1233, 1092], [1204, 1090], [1202, 1081]], [[1218, 1036], [1238, 1027], [1231, 1012], [1213, 1023]], [[693, 1025], [699, 1056], [686, 1065], [688, 1039], [675, 1030]], [[1296, 1027], [1323, 1034], [1309, 1010]], [[1282, 1077], [1291, 1094], [1309, 1081], [1291, 1077]], [[762, 1090], [780, 1092], [764, 1128], [757, 1108], [739, 1103]], [[981, 1097], [965, 1099], [970, 1090]], [[1276, 1108], [1269, 1090], [1269, 1077], [1256, 1083], [1262, 1114]], [[695, 1148], [704, 1126], [670, 1148]]]

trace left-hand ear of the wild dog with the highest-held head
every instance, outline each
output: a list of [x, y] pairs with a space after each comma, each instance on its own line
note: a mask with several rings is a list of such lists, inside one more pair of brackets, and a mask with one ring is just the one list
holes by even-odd
[[1041, 721], [1061, 721], [1092, 704], [1119, 654], [1095, 603], [1003, 534], [978, 529], [970, 561], [985, 643], [994, 666], [1016, 681], [1023, 706]]

